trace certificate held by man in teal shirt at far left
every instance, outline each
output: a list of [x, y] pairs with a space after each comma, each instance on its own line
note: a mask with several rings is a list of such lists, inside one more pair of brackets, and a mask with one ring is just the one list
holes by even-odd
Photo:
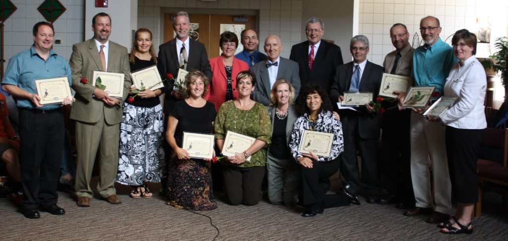
[[37, 95], [41, 105], [61, 103], [65, 98], [72, 100], [71, 88], [67, 76], [58, 78], [36, 79]]

